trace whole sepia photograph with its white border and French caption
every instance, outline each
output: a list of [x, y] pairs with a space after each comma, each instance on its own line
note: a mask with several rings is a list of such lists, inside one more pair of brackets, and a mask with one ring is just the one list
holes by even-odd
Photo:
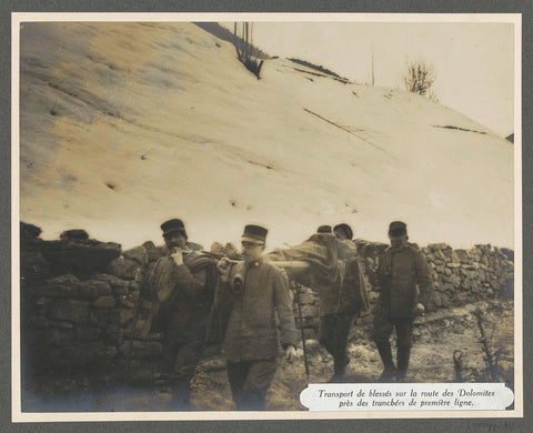
[[521, 31], [13, 13], [13, 421], [523, 416]]

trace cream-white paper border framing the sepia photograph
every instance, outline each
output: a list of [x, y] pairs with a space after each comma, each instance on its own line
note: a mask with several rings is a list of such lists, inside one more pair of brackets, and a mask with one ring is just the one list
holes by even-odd
[[[20, 24], [28, 21], [285, 21], [285, 22], [424, 22], [424, 23], [512, 23], [514, 24], [514, 185], [515, 185], [515, 316], [514, 316], [514, 395], [511, 411], [445, 412], [88, 412], [28, 413], [21, 409], [20, 371], [20, 179], [19, 179], [19, 58]], [[346, 419], [483, 419], [522, 417], [523, 405], [523, 256], [522, 256], [522, 14], [520, 13], [143, 13], [143, 12], [13, 12], [11, 14], [11, 397], [12, 422], [102, 422], [102, 421], [209, 421], [209, 420], [346, 420]]]

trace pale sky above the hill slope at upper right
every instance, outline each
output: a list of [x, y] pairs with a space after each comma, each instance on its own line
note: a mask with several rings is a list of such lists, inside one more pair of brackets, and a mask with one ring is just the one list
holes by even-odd
[[[233, 29], [232, 23], [223, 23]], [[514, 26], [510, 23], [254, 22], [253, 43], [360, 83], [404, 89], [408, 62], [436, 70], [440, 102], [502, 137], [514, 132]]]

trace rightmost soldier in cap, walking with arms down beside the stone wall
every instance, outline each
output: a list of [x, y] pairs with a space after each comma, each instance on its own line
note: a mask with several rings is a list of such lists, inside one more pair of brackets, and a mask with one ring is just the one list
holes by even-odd
[[[432, 289], [428, 263], [419, 249], [408, 242], [408, 226], [393, 221], [389, 226], [391, 246], [380, 256], [373, 289], [380, 292], [374, 308], [373, 340], [383, 361], [382, 382], [403, 382], [412, 346], [414, 318], [423, 313]], [[390, 336], [396, 331], [396, 365], [392, 360]]]

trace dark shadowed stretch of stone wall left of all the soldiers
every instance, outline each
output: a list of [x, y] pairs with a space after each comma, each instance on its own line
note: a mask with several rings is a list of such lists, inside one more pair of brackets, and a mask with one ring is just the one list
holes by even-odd
[[21, 224], [22, 371], [29, 386], [69, 391], [162, 381], [162, 335], [140, 336], [150, 302], [135, 282], [138, 269], [157, 260], [159, 250], [147, 242], [122, 251], [80, 230], [58, 241], [39, 233]]

